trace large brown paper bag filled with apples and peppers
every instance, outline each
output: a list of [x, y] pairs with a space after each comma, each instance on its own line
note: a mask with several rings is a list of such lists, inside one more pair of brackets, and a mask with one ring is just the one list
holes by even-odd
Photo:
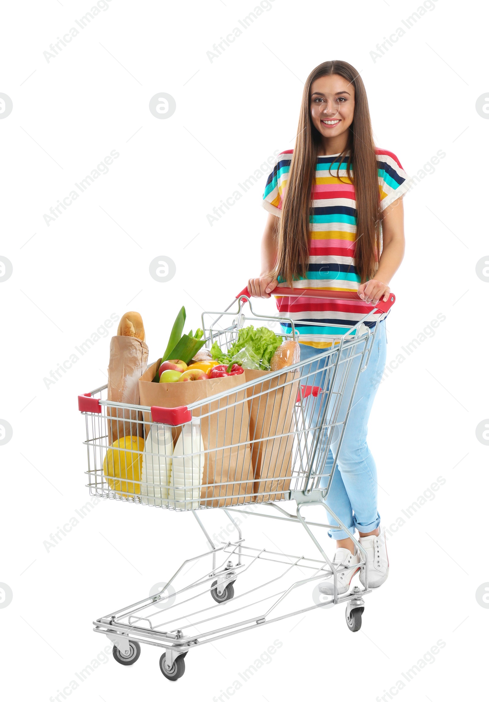
[[[196, 380], [188, 383], [152, 383], [157, 362], [140, 378], [140, 402], [144, 406], [179, 407], [208, 399], [194, 410], [201, 416], [201, 435], [205, 449], [201, 505], [226, 507], [251, 501], [253, 468], [249, 445], [249, 413], [246, 392], [239, 386], [245, 374]], [[226, 397], [213, 400], [213, 395]], [[149, 422], [149, 412], [144, 412]], [[180, 428], [174, 433], [174, 440]], [[239, 445], [234, 445], [239, 444]]]

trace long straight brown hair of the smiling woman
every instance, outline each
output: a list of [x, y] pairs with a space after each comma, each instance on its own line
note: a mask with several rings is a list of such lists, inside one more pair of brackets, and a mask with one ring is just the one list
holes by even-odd
[[330, 75], [342, 76], [355, 90], [354, 118], [349, 127], [347, 147], [338, 161], [341, 164], [342, 157], [349, 150], [347, 176], [354, 183], [357, 211], [355, 265], [362, 283], [375, 275], [380, 256], [380, 196], [367, 93], [363, 80], [353, 66], [345, 61], [326, 61], [314, 68], [304, 85], [297, 138], [279, 223], [275, 272], [290, 286], [294, 279], [307, 274], [311, 192], [321, 148], [321, 135], [311, 119], [311, 86], [316, 79]]

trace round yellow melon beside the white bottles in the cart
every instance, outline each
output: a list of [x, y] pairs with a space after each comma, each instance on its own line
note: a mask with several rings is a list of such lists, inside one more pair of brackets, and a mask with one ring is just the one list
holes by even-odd
[[[123, 496], [127, 496], [126, 493], [133, 495], [141, 493], [142, 451], [144, 450], [145, 439], [142, 437], [123, 437], [114, 441], [104, 458], [104, 475], [111, 490]], [[138, 482], [111, 479], [114, 477]]]

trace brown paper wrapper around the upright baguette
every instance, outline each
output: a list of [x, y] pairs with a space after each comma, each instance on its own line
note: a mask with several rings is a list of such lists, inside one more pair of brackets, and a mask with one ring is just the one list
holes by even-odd
[[[107, 399], [113, 402], [139, 404], [138, 380], [146, 371], [148, 347], [134, 336], [113, 336], [110, 340], [110, 357], [107, 374]], [[107, 422], [109, 446], [125, 436], [144, 437], [140, 412], [107, 407], [107, 415], [116, 420]]]

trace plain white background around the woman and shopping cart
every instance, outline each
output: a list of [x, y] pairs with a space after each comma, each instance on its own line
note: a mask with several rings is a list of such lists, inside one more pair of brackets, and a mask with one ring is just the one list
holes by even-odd
[[[489, 91], [482, 6], [438, 0], [406, 29], [415, 1], [274, 0], [212, 62], [206, 52], [241, 27], [253, 0], [108, 6], [49, 62], [43, 52], [78, 26], [90, 1], [12, 2], [2, 12], [0, 92], [13, 101], [0, 119], [0, 255], [13, 265], [0, 285], [0, 418], [13, 428], [0, 446], [0, 581], [13, 592], [0, 609], [5, 696], [57, 695], [108, 644], [94, 618], [146, 597], [206, 549], [192, 515], [103, 502], [46, 551], [43, 541], [88, 501], [76, 395], [105, 382], [112, 332], [49, 388], [43, 378], [128, 309], [142, 314], [156, 358], [181, 305], [195, 329], [203, 309], [227, 306], [259, 272], [266, 176], [212, 227], [206, 216], [275, 150], [293, 147], [303, 81], [338, 58], [361, 72], [377, 145], [410, 175], [446, 153], [405, 198], [388, 363], [437, 314], [446, 320], [380, 385], [369, 428], [383, 524], [396, 524], [437, 477], [446, 482], [389, 538], [391, 573], [368, 595], [359, 633], [340, 607], [313, 611], [195, 649], [175, 684], [159, 672], [161, 651], [143, 647], [133, 667], [110, 655], [72, 698], [212, 701], [276, 639], [272, 662], [237, 698], [375, 701], [438, 640], [445, 647], [399, 698], [467, 698], [485, 663], [489, 617], [476, 600], [489, 581], [489, 448], [476, 437], [489, 415], [489, 287], [476, 275], [489, 253], [489, 121], [475, 107]], [[406, 34], [373, 60], [397, 27]], [[175, 98], [169, 119], [149, 112], [160, 92]], [[109, 173], [47, 226], [43, 215], [111, 150], [120, 155]], [[157, 256], [175, 261], [171, 281], [150, 277]], [[263, 305], [273, 310], [272, 300]], [[210, 529], [225, 523], [219, 512], [204, 517]], [[252, 522], [245, 536], [260, 548], [291, 540], [311, 552], [302, 535]]]

